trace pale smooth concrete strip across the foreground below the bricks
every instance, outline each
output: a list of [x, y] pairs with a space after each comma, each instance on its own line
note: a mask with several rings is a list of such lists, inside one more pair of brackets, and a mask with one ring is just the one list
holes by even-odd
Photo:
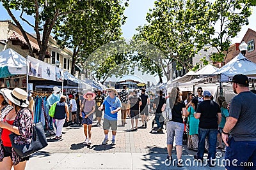
[[[225, 169], [205, 165], [177, 167], [176, 163], [166, 166], [165, 159], [166, 154], [156, 153], [36, 153], [26, 169]], [[182, 155], [182, 159], [187, 165], [189, 160], [193, 162], [192, 155]]]

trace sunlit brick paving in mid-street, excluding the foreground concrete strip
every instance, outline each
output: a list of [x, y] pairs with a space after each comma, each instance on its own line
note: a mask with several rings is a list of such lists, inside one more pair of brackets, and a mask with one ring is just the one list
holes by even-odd
[[[120, 115], [120, 114], [118, 114]], [[92, 145], [83, 145], [85, 136], [83, 127], [71, 125], [63, 127], [63, 137], [56, 141], [54, 136], [47, 137], [48, 146], [42, 150], [48, 153], [97, 153], [97, 152], [131, 152], [131, 153], [167, 153], [166, 152], [166, 131], [152, 134], [151, 121], [154, 115], [150, 115], [147, 129], [138, 129], [130, 132], [131, 119], [127, 119], [125, 127], [120, 127], [121, 120], [118, 120], [118, 130], [116, 133], [116, 145], [101, 145], [104, 139], [102, 127], [92, 127]], [[140, 127], [141, 121], [138, 126]], [[109, 144], [112, 138], [109, 131]]]

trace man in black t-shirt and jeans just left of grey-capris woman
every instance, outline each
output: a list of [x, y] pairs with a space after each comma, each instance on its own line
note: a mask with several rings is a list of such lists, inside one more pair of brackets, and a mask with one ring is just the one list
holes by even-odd
[[156, 109], [156, 124], [157, 124], [157, 132], [162, 131], [164, 127], [164, 122], [159, 122], [159, 119], [162, 114], [162, 107], [166, 103], [165, 98], [163, 97], [163, 91], [159, 91], [158, 96], [153, 101], [153, 107]]

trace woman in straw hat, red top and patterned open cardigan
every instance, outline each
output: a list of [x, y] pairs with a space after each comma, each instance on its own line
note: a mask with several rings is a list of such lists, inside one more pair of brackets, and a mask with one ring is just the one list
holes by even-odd
[[32, 140], [33, 120], [31, 111], [28, 109], [28, 93], [22, 89], [3, 91], [13, 110], [6, 113], [3, 111], [3, 120], [0, 122], [0, 169], [25, 169], [29, 157], [21, 159], [12, 149], [9, 134], [13, 133], [14, 142], [20, 145], [29, 144]]

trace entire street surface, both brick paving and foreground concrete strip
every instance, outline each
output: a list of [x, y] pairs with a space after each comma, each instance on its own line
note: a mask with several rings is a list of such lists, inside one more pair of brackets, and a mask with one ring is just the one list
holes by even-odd
[[[120, 114], [119, 114], [120, 115]], [[153, 116], [150, 116], [152, 120]], [[71, 125], [63, 128], [63, 139], [56, 141], [54, 136], [47, 137], [48, 146], [29, 159], [27, 170], [40, 169], [225, 169], [216, 167], [193, 166], [193, 155], [196, 152], [182, 151], [185, 167], [175, 164], [166, 166], [166, 131], [149, 133], [151, 120], [147, 129], [130, 132], [131, 119], [127, 119], [125, 127], [118, 127], [116, 145], [101, 145], [104, 139], [102, 127], [92, 127], [92, 145], [85, 146], [83, 127]], [[96, 122], [93, 122], [95, 124]], [[120, 124], [121, 121], [118, 120]], [[139, 127], [141, 122], [139, 121]], [[112, 138], [109, 132], [109, 139]], [[111, 141], [111, 140], [109, 140]], [[176, 158], [175, 148], [173, 159]], [[185, 162], [186, 161], [186, 162]], [[191, 165], [189, 165], [191, 161]], [[221, 162], [219, 160], [219, 162]]]

